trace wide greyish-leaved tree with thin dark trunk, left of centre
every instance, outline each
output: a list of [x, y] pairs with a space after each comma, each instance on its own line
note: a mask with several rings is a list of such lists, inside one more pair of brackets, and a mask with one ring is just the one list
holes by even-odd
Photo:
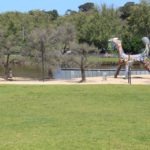
[[70, 50], [70, 42], [75, 39], [75, 29], [71, 24], [64, 24], [48, 29], [37, 28], [29, 36], [28, 56], [34, 58], [42, 66], [42, 79], [44, 80], [45, 69], [48, 70], [51, 78], [53, 69], [60, 67], [63, 61], [67, 61], [65, 54]]

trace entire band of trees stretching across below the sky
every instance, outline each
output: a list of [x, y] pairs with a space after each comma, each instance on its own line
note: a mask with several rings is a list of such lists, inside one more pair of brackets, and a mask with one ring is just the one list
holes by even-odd
[[[150, 37], [150, 2], [128, 2], [120, 8], [85, 3], [79, 11], [31, 10], [0, 14], [0, 61], [9, 77], [12, 56], [23, 56], [53, 72], [62, 64], [78, 64], [85, 81], [90, 51], [106, 52], [108, 39], [119, 37], [124, 50], [139, 53], [141, 38]], [[77, 57], [79, 56], [79, 57]]]

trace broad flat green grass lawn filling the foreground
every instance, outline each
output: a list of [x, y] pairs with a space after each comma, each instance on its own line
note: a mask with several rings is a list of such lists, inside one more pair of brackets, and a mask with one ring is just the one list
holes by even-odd
[[149, 150], [150, 86], [0, 85], [0, 150]]

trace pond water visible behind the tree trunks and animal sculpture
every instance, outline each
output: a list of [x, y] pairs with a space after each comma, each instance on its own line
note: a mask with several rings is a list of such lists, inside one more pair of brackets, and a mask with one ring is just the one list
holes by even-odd
[[[33, 79], [42, 79], [42, 71], [39, 66], [35, 65], [22, 65], [22, 66], [13, 66], [12, 67], [13, 76], [15, 77], [25, 77], [25, 78], [33, 78]], [[124, 68], [120, 71], [119, 75], [124, 75]], [[87, 77], [97, 77], [103, 76], [104, 74], [107, 76], [114, 76], [116, 72], [116, 66], [111, 67], [103, 67], [101, 69], [87, 69], [86, 76]], [[141, 75], [141, 74], [149, 74], [148, 71], [144, 70], [143, 68], [132, 68], [133, 75]], [[4, 68], [0, 67], [0, 76], [4, 77]], [[72, 78], [80, 78], [81, 72], [80, 69], [57, 69], [54, 71], [54, 78], [55, 79], [65, 79], [69, 80]], [[45, 79], [48, 79], [48, 72], [45, 71]]]

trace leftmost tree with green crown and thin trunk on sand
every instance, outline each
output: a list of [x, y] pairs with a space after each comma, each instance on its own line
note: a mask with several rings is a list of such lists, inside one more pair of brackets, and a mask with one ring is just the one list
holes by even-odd
[[[5, 22], [1, 22], [0, 49], [4, 58], [5, 78], [9, 78], [11, 69], [11, 56], [21, 51], [21, 36], [16, 16], [18, 13], [6, 13]], [[5, 25], [6, 24], [6, 25]]]

